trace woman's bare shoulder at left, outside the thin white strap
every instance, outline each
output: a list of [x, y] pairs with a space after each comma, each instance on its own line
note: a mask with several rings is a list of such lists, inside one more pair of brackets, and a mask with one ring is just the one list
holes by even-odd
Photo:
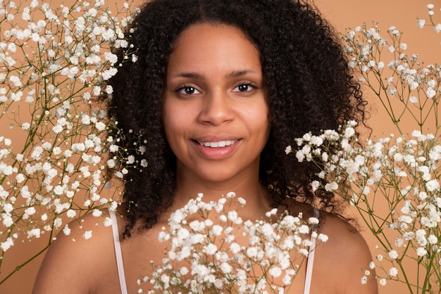
[[[111, 227], [91, 214], [70, 222], [70, 234], [61, 231], [44, 257], [35, 281], [38, 293], [92, 293], [99, 276], [108, 276], [115, 267]], [[98, 276], [99, 275], [99, 276]]]

